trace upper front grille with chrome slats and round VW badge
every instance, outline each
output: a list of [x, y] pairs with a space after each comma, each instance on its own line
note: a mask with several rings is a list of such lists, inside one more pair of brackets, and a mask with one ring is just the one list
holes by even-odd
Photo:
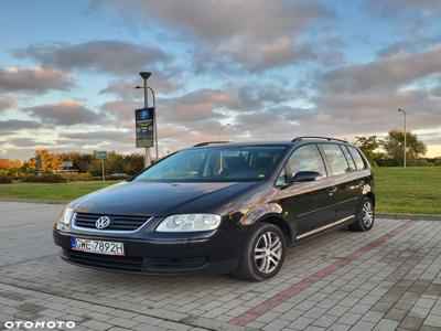
[[[74, 225], [85, 228], [95, 228], [96, 221], [104, 216], [103, 214], [77, 213], [74, 218]], [[135, 231], [141, 227], [150, 217], [149, 216], [132, 216], [132, 215], [108, 215], [110, 225], [103, 231]]]

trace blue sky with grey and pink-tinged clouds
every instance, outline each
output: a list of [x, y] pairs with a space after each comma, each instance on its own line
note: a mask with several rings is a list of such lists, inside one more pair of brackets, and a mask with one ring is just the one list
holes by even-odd
[[353, 139], [408, 127], [441, 156], [441, 1], [2, 1], [0, 157], [139, 151], [152, 72], [160, 151]]

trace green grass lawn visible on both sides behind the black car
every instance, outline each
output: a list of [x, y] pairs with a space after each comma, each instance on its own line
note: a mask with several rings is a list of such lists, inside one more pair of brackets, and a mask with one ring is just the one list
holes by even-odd
[[[441, 215], [441, 168], [377, 168], [374, 170], [379, 213]], [[0, 197], [69, 201], [116, 181], [63, 184], [0, 185]]]

